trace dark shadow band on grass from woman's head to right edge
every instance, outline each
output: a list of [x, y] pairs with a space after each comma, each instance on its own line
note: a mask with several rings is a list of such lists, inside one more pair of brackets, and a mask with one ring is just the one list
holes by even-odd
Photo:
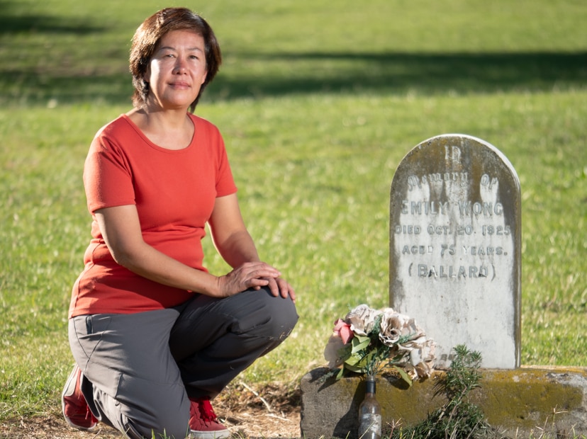
[[[242, 55], [240, 55], [242, 56]], [[496, 91], [551, 90], [557, 86], [587, 84], [587, 52], [557, 53], [383, 53], [383, 54], [248, 54], [270, 64], [281, 60], [313, 65], [305, 76], [250, 76], [248, 79], [215, 79], [213, 93], [223, 97], [279, 96], [324, 91], [373, 91], [375, 93], [484, 93]], [[337, 64], [342, 64], [337, 69]], [[242, 76], [246, 76], [243, 74]]]

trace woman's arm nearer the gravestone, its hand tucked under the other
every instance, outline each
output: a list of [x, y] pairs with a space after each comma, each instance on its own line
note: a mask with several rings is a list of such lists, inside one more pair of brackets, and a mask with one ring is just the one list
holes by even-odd
[[[216, 250], [235, 270], [238, 270], [245, 263], [259, 262], [255, 243], [242, 220], [236, 194], [216, 198], [208, 224]], [[267, 264], [264, 266], [275, 270]], [[295, 301], [296, 292], [286, 280], [279, 278], [281, 273], [277, 270], [276, 272], [277, 276], [267, 278], [267, 285], [269, 285], [272, 294], [274, 296], [281, 295], [284, 298], [291, 297], [291, 300]]]

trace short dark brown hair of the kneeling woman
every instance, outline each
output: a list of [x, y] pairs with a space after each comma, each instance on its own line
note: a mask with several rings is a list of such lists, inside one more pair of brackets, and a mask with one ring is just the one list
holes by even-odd
[[216, 35], [210, 25], [197, 13], [188, 8], [164, 8], [147, 18], [138, 27], [133, 36], [133, 44], [130, 47], [130, 73], [133, 74], [133, 105], [144, 108], [149, 95], [149, 84], [145, 81], [145, 73], [149, 67], [151, 57], [157, 50], [161, 39], [171, 30], [191, 30], [204, 40], [206, 50], [206, 80], [200, 88], [200, 92], [194, 102], [189, 106], [193, 113], [203, 89], [211, 83], [220, 64], [222, 55]]

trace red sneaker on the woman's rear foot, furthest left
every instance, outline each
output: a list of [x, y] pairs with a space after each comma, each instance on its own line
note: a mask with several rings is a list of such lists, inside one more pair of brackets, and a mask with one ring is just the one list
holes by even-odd
[[79, 389], [81, 375], [82, 370], [78, 365], [74, 365], [61, 394], [61, 409], [69, 426], [78, 430], [93, 430], [98, 424], [98, 419], [91, 413], [84, 394]]

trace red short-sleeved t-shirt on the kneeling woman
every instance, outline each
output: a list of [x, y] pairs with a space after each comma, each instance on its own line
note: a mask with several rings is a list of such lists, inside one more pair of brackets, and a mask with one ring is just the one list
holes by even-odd
[[194, 293], [153, 282], [118, 265], [106, 247], [94, 212], [136, 205], [142, 237], [158, 251], [198, 270], [201, 239], [216, 197], [235, 193], [222, 136], [210, 122], [189, 115], [194, 137], [172, 150], [150, 142], [126, 115], [103, 127], [91, 143], [84, 187], [92, 239], [84, 254], [69, 317], [130, 314], [173, 307]]

